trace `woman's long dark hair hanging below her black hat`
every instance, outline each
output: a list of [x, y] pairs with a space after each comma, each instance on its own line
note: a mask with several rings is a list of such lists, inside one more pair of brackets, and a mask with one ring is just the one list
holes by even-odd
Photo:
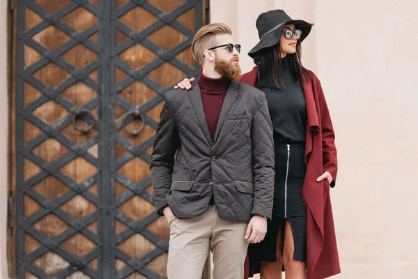
[[[286, 88], [283, 81], [283, 70], [281, 68], [281, 44], [280, 41], [272, 47], [265, 48], [254, 57], [254, 63], [258, 66], [257, 87]], [[310, 80], [312, 73], [302, 66], [300, 41], [296, 44], [296, 53], [287, 54], [289, 59], [289, 70], [293, 80], [299, 82], [304, 79]]]

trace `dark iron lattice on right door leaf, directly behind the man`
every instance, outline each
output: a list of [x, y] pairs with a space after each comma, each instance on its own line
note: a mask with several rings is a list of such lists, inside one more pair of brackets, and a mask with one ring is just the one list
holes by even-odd
[[[132, 8], [135, 8], [137, 6], [144, 8], [144, 10], [147, 10], [149, 13], [155, 15], [160, 20], [139, 32], [135, 32], [134, 30], [130, 29], [130, 27], [127, 27], [125, 24], [118, 21], [119, 17], [121, 17], [125, 13], [132, 10]], [[148, 188], [148, 186], [152, 184], [150, 176], [148, 176], [146, 179], [143, 179], [142, 181], [139, 181], [138, 183], [134, 183], [134, 181], [127, 179], [127, 177], [123, 176], [117, 171], [119, 167], [125, 165], [125, 163], [129, 162], [135, 157], [139, 157], [146, 163], [150, 164], [150, 156], [148, 155], [148, 153], [146, 153], [146, 150], [153, 145], [155, 136], [148, 138], [139, 145], [135, 145], [134, 143], [130, 142], [130, 140], [127, 140], [121, 135], [118, 135], [118, 130], [122, 128], [122, 121], [116, 121], [116, 119], [114, 119], [114, 105], [119, 105], [127, 112], [134, 111], [136, 107], [134, 107], [134, 105], [132, 105], [131, 103], [127, 102], [127, 100], [123, 99], [121, 96], [118, 96], [118, 93], [126, 86], [129, 86], [137, 80], [146, 84], [146, 86], [148, 86], [150, 89], [157, 93], [157, 96], [149, 100], [147, 103], [144, 103], [141, 106], [139, 106], [139, 110], [143, 112], [145, 116], [146, 125], [154, 129], [157, 129], [157, 121], [148, 116], [146, 112], [148, 112], [148, 110], [152, 109], [153, 107], [155, 107], [155, 105], [159, 104], [162, 100], [164, 100], [164, 94], [167, 91], [169, 91], [174, 84], [170, 85], [166, 89], [160, 86], [160, 84], [157, 84], [157, 82], [150, 80], [150, 78], [146, 77], [146, 75], [148, 75], [148, 73], [150, 73], [152, 70], [155, 70], [156, 68], [161, 66], [164, 62], [171, 63], [171, 65], [186, 73], [187, 76], [194, 76], [199, 74], [199, 63], [195, 63], [195, 68], [190, 68], [187, 64], [175, 58], [177, 54], [183, 52], [183, 50], [185, 50], [187, 47], [191, 45], [192, 38], [194, 36], [194, 31], [191, 31], [179, 22], [176, 22], [176, 18], [182, 15], [183, 13], [187, 12], [187, 10], [194, 7], [196, 8], [195, 31], [197, 31], [197, 29], [201, 27], [203, 21], [203, 7], [201, 1], [199, 0], [188, 1], [187, 3], [183, 4], [182, 6], [179, 6], [178, 8], [176, 8], [168, 14], [163, 13], [161, 10], [158, 10], [147, 1], [143, 0], [130, 0], [130, 3], [126, 3], [124, 6], [118, 8], [117, 10], [114, 8], [114, 6], [112, 6], [112, 11], [114, 11], [114, 13], [111, 17], [111, 84], [114, 85], [111, 87], [111, 115], [113, 117], [111, 121], [111, 137], [109, 139], [109, 146], [111, 146], [111, 158], [115, 158], [114, 146], [116, 142], [128, 151], [123, 156], [121, 156], [121, 158], [118, 158], [117, 160], [111, 160], [110, 183], [112, 197], [114, 197], [115, 181], [118, 181], [118, 183], [121, 183], [128, 189], [125, 190], [125, 192], [122, 195], [112, 199], [111, 201], [111, 245], [112, 248], [114, 248], [112, 250], [114, 256], [111, 258], [115, 261], [115, 258], [118, 257], [127, 264], [127, 266], [124, 269], [122, 269], [119, 272], [115, 272], [115, 278], [125, 278], [136, 271], [146, 276], [147, 278], [160, 278], [160, 276], [158, 276], [156, 273], [150, 271], [150, 269], [146, 267], [146, 264], [152, 262], [155, 258], [159, 257], [164, 252], [168, 252], [169, 241], [164, 241], [160, 239], [159, 236], [153, 234], [148, 229], [146, 229], [148, 225], [150, 225], [155, 220], [157, 220], [157, 218], [159, 218], [156, 214], [156, 211], [150, 213], [145, 218], [142, 218], [141, 220], [136, 222], [135, 220], [132, 220], [131, 218], [127, 217], [121, 211], [117, 210], [118, 206], [120, 206], [124, 202], [127, 202], [127, 200], [134, 197], [134, 195], [139, 195], [147, 202], [150, 202], [150, 204], [155, 205], [153, 195], [150, 195], [150, 193], [146, 191], [146, 188]], [[151, 43], [150, 40], [148, 40], [146, 37], [149, 36], [151, 33], [157, 31], [158, 29], [164, 27], [165, 24], [168, 24], [180, 33], [185, 34], [185, 36], [187, 36], [187, 40], [183, 41], [182, 43], [171, 48], [171, 50], [167, 51], [163, 50], [158, 45]], [[125, 40], [123, 43], [119, 45], [115, 44], [115, 29], [118, 29], [119, 31], [124, 33], [125, 36], [128, 37], [127, 40]], [[154, 61], [151, 61], [150, 63], [146, 64], [146, 66], [144, 67], [134, 69], [129, 64], [125, 63], [125, 61], [119, 59], [118, 55], [137, 43], [140, 43], [144, 47], [148, 48], [148, 50], [151, 50], [152, 52], [157, 54], [158, 57]], [[118, 68], [121, 68], [121, 70], [125, 71], [125, 73], [127, 73], [128, 75], [124, 80], [118, 82], [117, 84], [114, 80], [116, 66]], [[125, 123], [129, 123], [132, 120], [133, 118], [129, 119]], [[121, 234], [116, 235], [114, 228], [115, 223], [113, 221], [114, 219], [119, 220], [121, 223], [127, 225], [128, 228], [125, 229], [125, 231]], [[132, 257], [127, 255], [125, 252], [118, 249], [117, 246], [118, 244], [122, 243], [134, 234], [141, 234], [148, 241], [153, 243], [156, 246], [156, 248], [150, 251], [147, 255], [144, 255], [144, 257], [141, 257], [139, 259], [132, 259]], [[115, 262], [112, 262], [111, 266], [113, 267], [114, 265]]]

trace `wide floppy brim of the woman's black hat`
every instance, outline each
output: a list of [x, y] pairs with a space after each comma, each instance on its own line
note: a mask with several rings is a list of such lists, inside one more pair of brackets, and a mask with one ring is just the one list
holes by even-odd
[[276, 45], [279, 43], [280, 37], [281, 37], [281, 30], [285, 25], [288, 24], [295, 24], [295, 27], [297, 29], [300, 29], [302, 31], [302, 36], [300, 37], [300, 43], [303, 42], [305, 38], [311, 33], [311, 29], [314, 26], [313, 23], [305, 22], [304, 20], [289, 20], [288, 22], [284, 22], [281, 25], [281, 27], [277, 28], [276, 30], [272, 31], [271, 33], [268, 33], [264, 38], [262, 38], [258, 44], [252, 48], [248, 52], [248, 55], [251, 56], [251, 58], [254, 59], [257, 52], [260, 52], [261, 50], [272, 47], [273, 45]]

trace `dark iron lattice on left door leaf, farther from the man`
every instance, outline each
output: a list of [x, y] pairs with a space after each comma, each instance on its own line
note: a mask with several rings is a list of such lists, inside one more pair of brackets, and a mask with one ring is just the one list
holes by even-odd
[[[54, 278], [65, 278], [78, 270], [82, 270], [84, 274], [91, 278], [99, 278], [98, 271], [91, 269], [88, 264], [99, 257], [102, 243], [100, 241], [100, 237], [87, 227], [95, 222], [99, 222], [99, 224], [102, 222], [102, 220], [99, 220], [102, 204], [100, 198], [87, 189], [99, 182], [99, 174], [97, 170], [100, 170], [100, 157], [98, 158], [93, 156], [90, 152], [88, 152], [88, 150], [95, 144], [98, 144], [100, 132], [81, 144], [71, 140], [61, 133], [68, 126], [72, 125], [73, 115], [71, 112], [75, 112], [77, 108], [91, 111], [99, 105], [100, 95], [97, 95], [95, 98], [91, 98], [91, 100], [84, 105], [76, 105], [68, 100], [68, 98], [61, 95], [61, 93], [70, 89], [71, 86], [75, 86], [77, 82], [83, 82], [83, 84], [86, 84], [88, 88], [93, 89], [95, 92], [100, 91], [98, 81], [88, 77], [88, 74], [99, 68], [100, 61], [98, 61], [98, 59], [91, 61], [91, 63], [88, 63], [88, 65], [84, 67], [77, 67], [63, 59], [63, 54], [72, 50], [73, 47], [77, 47], [77, 45], [82, 45], [82, 47], [86, 47], [86, 49], [95, 54], [100, 53], [99, 45], [88, 38], [93, 35], [93, 33], [98, 32], [98, 22], [93, 24], [88, 29], [78, 31], [61, 20], [61, 18], [65, 17], [65, 15], [72, 13], [80, 7], [88, 10], [88, 13], [91, 13], [95, 17], [100, 17], [100, 8], [88, 1], [72, 1], [67, 6], [54, 11], [54, 13], [49, 13], [35, 1], [20, 1], [19, 18], [23, 20], [21, 20], [18, 27], [17, 46], [17, 51], [20, 54], [18, 55], [17, 61], [18, 80], [16, 144], [18, 278], [24, 278], [26, 276], [26, 271], [29, 271], [38, 278], [47, 278], [48, 276], [54, 276]], [[31, 13], [36, 13], [40, 16], [41, 20], [35, 27], [25, 30], [23, 23], [25, 13], [28, 10], [31, 11]], [[49, 27], [65, 33], [65, 36], [68, 36], [70, 39], [54, 50], [45, 47], [45, 45], [42, 45], [39, 41], [35, 40], [34, 36]], [[24, 67], [27, 62], [24, 61], [24, 56], [22, 55], [24, 54], [24, 47], [31, 47], [31, 49], [41, 54], [40, 60], [33, 63], [31, 66]], [[62, 82], [59, 82], [59, 84], [44, 84], [40, 80], [36, 79], [34, 75], [45, 67], [53, 67], [55, 70], [64, 71], [65, 73], [68, 73], [69, 77], [65, 78]], [[36, 91], [41, 93], [41, 96], [29, 104], [24, 104], [24, 100], [26, 98], [24, 96], [25, 86], [32, 86], [36, 89]], [[62, 119], [59, 119], [59, 121], [56, 121], [56, 123], [52, 123], [51, 121], [40, 119], [40, 117], [36, 116], [37, 108], [44, 105], [62, 107], [63, 110], [67, 110], [69, 113]], [[87, 117], [84, 120], [87, 122], [92, 121], [92, 119], [87, 119]], [[24, 142], [24, 126], [26, 121], [29, 121], [31, 125], [40, 130], [39, 135], [34, 137], [29, 142]], [[95, 123], [93, 126], [94, 130], [100, 130], [98, 129], [99, 126], [100, 121]], [[42, 156], [36, 154], [36, 150], [45, 142], [47, 144], [58, 143], [60, 149], [66, 149], [68, 152], [56, 160], [50, 160], [50, 158], [45, 157], [42, 158]], [[25, 160], [30, 160], [40, 169], [37, 174], [31, 176], [29, 179], [25, 179], [24, 177]], [[96, 169], [95, 174], [90, 177], [86, 177], [83, 181], [76, 181], [78, 179], [74, 179], [66, 175], [63, 168], [75, 160], [84, 160], [87, 162], [87, 164]], [[44, 195], [40, 195], [38, 191], [34, 190], [34, 186], [41, 183], [44, 179], [47, 179], [49, 176], [54, 177], [54, 179], [63, 183], [69, 188], [69, 190], [60, 197], [56, 197], [52, 200], [48, 199]], [[65, 211], [63, 208], [68, 208], [65, 204], [74, 198], [80, 197], [82, 199], [86, 199], [88, 203], [93, 204], [93, 207], [95, 207], [96, 210], [89, 212], [88, 215], [84, 216], [81, 220], [77, 220], [74, 216], [72, 216], [70, 211]], [[28, 198], [36, 201], [40, 205], [40, 209], [32, 213], [30, 216], [25, 216], [24, 204], [25, 199]], [[54, 219], [56, 219], [56, 222], [61, 222], [61, 225], [65, 223], [63, 226], [66, 228], [63, 232], [61, 232], [61, 234], [48, 235], [47, 230], [45, 230], [47, 229], [45, 228], [45, 222], [42, 220], [47, 220], [46, 223], [50, 224]], [[36, 227], [38, 227], [38, 229], [36, 229]], [[24, 239], [28, 236], [25, 236], [25, 234], [29, 234], [31, 238], [40, 243], [39, 248], [29, 252], [27, 255], [25, 255], [24, 251]], [[77, 257], [73, 253], [68, 252], [68, 250], [63, 248], [63, 243], [73, 239], [74, 237], [88, 239], [89, 243], [93, 243], [92, 246], [94, 246], [94, 249], [84, 255], [84, 257]], [[49, 259], [50, 255], [62, 259], [62, 262], [66, 262], [67, 266], [54, 274], [45, 274], [45, 272], [39, 268], [39, 264], [37, 263], [39, 263], [39, 261], [42, 262], [42, 257], [44, 260]]]

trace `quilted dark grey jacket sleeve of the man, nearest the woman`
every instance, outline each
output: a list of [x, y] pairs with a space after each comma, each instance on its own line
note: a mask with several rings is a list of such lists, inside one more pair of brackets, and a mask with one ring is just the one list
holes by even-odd
[[273, 127], [264, 93], [258, 98], [251, 124], [254, 204], [251, 215], [272, 218], [274, 193]]

